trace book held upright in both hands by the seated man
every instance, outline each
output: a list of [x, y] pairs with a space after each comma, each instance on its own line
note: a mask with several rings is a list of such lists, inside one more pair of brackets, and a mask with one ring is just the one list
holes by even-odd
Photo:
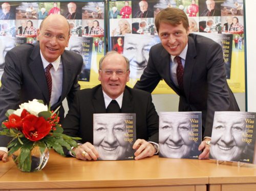
[[133, 160], [136, 141], [135, 113], [94, 113], [93, 145], [98, 160]]

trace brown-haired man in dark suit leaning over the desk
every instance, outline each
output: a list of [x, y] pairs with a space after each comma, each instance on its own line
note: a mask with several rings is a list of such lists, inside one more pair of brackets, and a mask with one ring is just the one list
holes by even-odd
[[202, 111], [204, 141], [199, 146], [208, 158], [215, 111], [239, 111], [226, 81], [222, 47], [215, 41], [189, 34], [184, 11], [166, 8], [155, 25], [161, 43], [152, 46], [147, 67], [134, 88], [152, 92], [163, 79], [179, 96], [179, 111]]

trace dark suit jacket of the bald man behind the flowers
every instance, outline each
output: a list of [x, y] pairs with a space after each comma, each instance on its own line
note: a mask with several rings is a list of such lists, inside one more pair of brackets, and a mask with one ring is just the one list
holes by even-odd
[[[83, 64], [82, 57], [71, 51], [61, 55], [63, 65], [62, 93], [58, 102], [51, 109], [62, 106], [67, 97], [71, 104], [75, 91], [80, 89], [77, 76]], [[22, 44], [10, 50], [5, 57], [5, 68], [0, 88], [0, 122], [7, 119], [8, 109], [17, 109], [19, 104], [33, 99], [43, 100], [49, 105], [49, 93], [45, 70], [42, 65], [39, 44]], [[60, 118], [64, 116], [63, 107], [60, 108]], [[0, 128], [1, 129], [1, 128]], [[0, 147], [6, 147], [9, 137], [0, 137]]]

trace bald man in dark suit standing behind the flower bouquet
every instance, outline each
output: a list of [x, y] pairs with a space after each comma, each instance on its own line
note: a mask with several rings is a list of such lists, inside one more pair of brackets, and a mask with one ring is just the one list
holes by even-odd
[[[22, 44], [10, 50], [5, 57], [5, 68], [0, 88], [0, 123], [7, 119], [8, 109], [19, 104], [43, 100], [51, 104], [51, 110], [59, 109], [63, 118], [62, 101], [73, 102], [75, 91], [80, 89], [77, 76], [82, 67], [82, 57], [66, 51], [70, 38], [69, 23], [65, 17], [54, 14], [41, 22], [37, 31], [37, 44]], [[52, 87], [47, 85], [46, 71], [49, 66]], [[49, 74], [49, 73], [48, 73]], [[0, 130], [2, 130], [0, 128]], [[0, 159], [7, 161], [9, 137], [0, 137]]]

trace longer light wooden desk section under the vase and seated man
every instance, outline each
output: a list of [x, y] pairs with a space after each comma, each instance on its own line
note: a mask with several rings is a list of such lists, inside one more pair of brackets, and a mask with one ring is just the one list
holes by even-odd
[[1, 163], [6, 173], [0, 178], [0, 190], [206, 190], [207, 172], [199, 171], [193, 161], [158, 156], [138, 161], [82, 161], [51, 151], [40, 172], [20, 172], [12, 160]]

